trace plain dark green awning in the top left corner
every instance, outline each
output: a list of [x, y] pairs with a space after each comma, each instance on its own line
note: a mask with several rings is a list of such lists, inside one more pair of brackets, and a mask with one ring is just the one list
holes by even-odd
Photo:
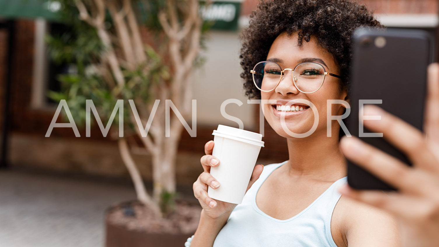
[[61, 8], [57, 0], [0, 0], [0, 17], [58, 20]]

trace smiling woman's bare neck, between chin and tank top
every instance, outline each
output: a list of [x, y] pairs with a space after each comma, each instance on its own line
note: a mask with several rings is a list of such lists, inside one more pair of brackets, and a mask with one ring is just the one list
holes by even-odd
[[338, 134], [313, 133], [306, 138], [288, 138], [288, 174], [325, 181], [346, 175], [346, 160], [338, 147]]

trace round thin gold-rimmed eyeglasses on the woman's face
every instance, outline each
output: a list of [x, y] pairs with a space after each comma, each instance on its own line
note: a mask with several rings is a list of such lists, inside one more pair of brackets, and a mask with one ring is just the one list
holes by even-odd
[[275, 62], [262, 61], [257, 63], [250, 73], [259, 90], [270, 92], [285, 78], [286, 70], [292, 72], [294, 86], [302, 93], [316, 92], [322, 87], [326, 75], [342, 78], [340, 75], [326, 72], [322, 64], [315, 62], [301, 63], [297, 64], [294, 69], [282, 70], [281, 66]]

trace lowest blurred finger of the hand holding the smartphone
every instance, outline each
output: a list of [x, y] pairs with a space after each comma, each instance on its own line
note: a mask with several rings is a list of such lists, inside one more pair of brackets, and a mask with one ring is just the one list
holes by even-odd
[[413, 197], [401, 193], [384, 193], [377, 190], [354, 190], [347, 184], [338, 189], [342, 195], [354, 200], [382, 208], [399, 217], [413, 221], [420, 221], [435, 213], [435, 204], [420, 197]]

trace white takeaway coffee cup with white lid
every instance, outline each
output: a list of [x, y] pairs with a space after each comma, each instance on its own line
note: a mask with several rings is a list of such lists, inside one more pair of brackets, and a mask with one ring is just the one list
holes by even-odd
[[212, 155], [219, 159], [219, 165], [210, 168], [210, 174], [220, 186], [215, 190], [209, 187], [207, 193], [213, 199], [240, 204], [264, 146], [262, 135], [225, 125], [218, 125], [212, 135]]

